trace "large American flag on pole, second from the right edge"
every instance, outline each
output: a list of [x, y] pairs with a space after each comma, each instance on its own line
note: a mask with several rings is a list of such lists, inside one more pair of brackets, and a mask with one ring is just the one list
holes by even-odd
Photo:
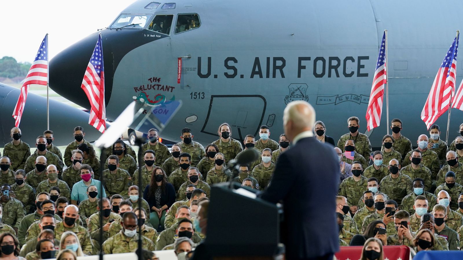
[[421, 119], [429, 127], [444, 114], [450, 106], [450, 100], [455, 92], [455, 78], [457, 70], [458, 37], [455, 37], [449, 51], [445, 54], [425, 106], [421, 111]]

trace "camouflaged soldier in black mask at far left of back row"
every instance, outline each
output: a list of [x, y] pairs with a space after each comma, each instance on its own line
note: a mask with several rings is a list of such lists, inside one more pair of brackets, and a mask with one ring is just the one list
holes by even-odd
[[21, 141], [21, 130], [18, 127], [13, 127], [10, 135], [13, 141], [5, 144], [3, 156], [10, 158], [13, 171], [24, 169], [26, 160], [31, 155], [31, 148]]

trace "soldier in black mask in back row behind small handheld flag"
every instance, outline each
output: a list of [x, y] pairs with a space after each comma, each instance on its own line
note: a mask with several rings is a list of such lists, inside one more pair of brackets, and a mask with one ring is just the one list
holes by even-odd
[[[345, 152], [345, 143], [347, 140], [353, 140], [355, 142], [355, 149], [357, 153], [363, 156], [365, 161], [369, 161], [371, 154], [371, 144], [367, 135], [364, 135], [358, 131], [360, 127], [359, 120], [357, 117], [350, 117], [347, 119], [349, 127], [349, 133], [341, 136], [338, 141], [338, 148]], [[359, 160], [356, 160], [359, 161]], [[367, 164], [368, 166], [368, 164]], [[366, 168], [366, 166], [364, 167]]]

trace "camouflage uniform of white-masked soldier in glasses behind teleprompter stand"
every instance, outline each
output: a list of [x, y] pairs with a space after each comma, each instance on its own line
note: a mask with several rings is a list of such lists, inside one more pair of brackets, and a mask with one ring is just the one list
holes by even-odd
[[[102, 245], [105, 254], [121, 254], [135, 252], [138, 248], [138, 234], [132, 237], [124, 235], [121, 230], [118, 234], [108, 238]], [[142, 248], [149, 251], [154, 251], [154, 243], [147, 237], [142, 235]]]

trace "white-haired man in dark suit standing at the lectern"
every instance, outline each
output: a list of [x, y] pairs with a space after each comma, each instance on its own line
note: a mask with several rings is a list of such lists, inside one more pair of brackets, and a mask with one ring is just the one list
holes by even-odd
[[293, 147], [280, 155], [271, 183], [261, 194], [269, 202], [283, 202], [282, 242], [291, 260], [332, 260], [339, 249], [339, 165], [332, 146], [313, 136], [314, 122], [309, 103], [286, 106], [283, 127]]

